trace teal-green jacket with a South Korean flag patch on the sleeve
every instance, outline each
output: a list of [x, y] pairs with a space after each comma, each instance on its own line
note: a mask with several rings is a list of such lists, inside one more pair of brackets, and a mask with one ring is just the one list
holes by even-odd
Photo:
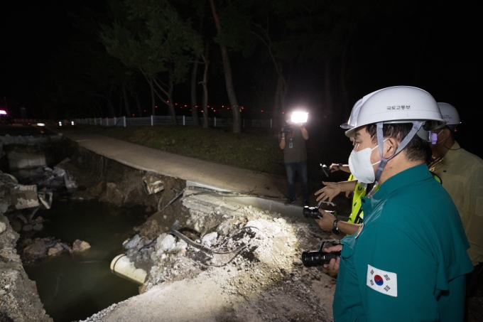
[[335, 322], [462, 321], [469, 244], [428, 167], [389, 178], [362, 208], [362, 227], [342, 240]]

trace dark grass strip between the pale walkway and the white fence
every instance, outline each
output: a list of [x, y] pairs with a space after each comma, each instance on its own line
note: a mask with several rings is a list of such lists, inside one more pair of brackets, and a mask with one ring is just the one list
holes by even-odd
[[233, 134], [229, 129], [200, 127], [99, 127], [80, 125], [89, 133], [102, 134], [153, 149], [222, 163], [258, 172], [283, 175], [283, 151], [271, 129], [247, 129]]

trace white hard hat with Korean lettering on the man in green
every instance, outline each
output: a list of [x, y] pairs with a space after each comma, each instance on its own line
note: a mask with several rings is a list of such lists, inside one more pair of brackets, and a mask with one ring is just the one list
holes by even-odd
[[362, 98], [362, 106], [354, 127], [345, 132], [345, 135], [354, 136], [357, 127], [378, 122], [413, 123], [416, 121], [438, 121], [445, 124], [433, 96], [418, 87], [387, 87]]

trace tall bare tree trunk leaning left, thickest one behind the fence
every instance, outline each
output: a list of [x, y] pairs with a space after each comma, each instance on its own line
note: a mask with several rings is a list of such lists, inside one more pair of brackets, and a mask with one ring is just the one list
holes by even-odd
[[[214, 0], [210, 0], [210, 6], [212, 9], [213, 19], [215, 20], [217, 33], [219, 35], [222, 32], [222, 26], [219, 23], [219, 18], [217, 15], [217, 11], [215, 9]], [[224, 82], [227, 87], [229, 103], [232, 107], [233, 133], [240, 133], [241, 132], [240, 107], [238, 104], [237, 95], [235, 94], [234, 87], [233, 87], [232, 67], [229, 63], [228, 50], [227, 50], [227, 47], [221, 43], [219, 44], [219, 48], [222, 51]]]

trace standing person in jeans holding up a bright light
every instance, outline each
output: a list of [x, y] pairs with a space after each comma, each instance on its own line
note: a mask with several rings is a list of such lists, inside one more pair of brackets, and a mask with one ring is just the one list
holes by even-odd
[[309, 204], [307, 149], [305, 148], [308, 132], [303, 123], [298, 123], [298, 121], [297, 112], [286, 114], [286, 125], [282, 127], [281, 133], [278, 135], [287, 172], [288, 200], [285, 203], [286, 205], [295, 203], [295, 173], [298, 173], [302, 181], [303, 204]]

